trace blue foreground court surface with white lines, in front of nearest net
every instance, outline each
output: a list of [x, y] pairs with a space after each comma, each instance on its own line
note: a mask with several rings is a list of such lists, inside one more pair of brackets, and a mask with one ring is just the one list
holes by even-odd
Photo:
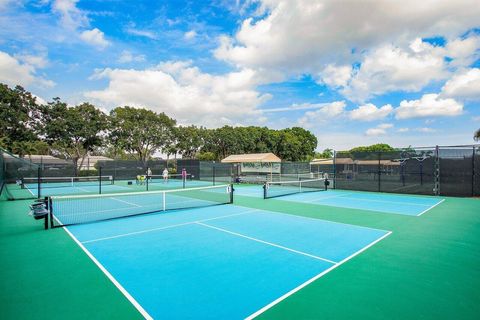
[[257, 315], [390, 234], [235, 205], [67, 230], [158, 319]]

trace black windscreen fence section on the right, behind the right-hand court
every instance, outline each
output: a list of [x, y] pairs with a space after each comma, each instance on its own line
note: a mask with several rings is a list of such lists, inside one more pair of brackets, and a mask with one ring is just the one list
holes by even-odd
[[[422, 195], [479, 196], [479, 146], [336, 152], [335, 188]], [[322, 165], [318, 165], [320, 167]]]

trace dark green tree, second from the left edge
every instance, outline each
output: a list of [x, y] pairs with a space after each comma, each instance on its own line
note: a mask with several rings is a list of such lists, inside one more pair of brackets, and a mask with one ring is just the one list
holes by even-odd
[[101, 146], [107, 116], [89, 103], [68, 107], [59, 98], [43, 106], [42, 111], [45, 140], [53, 152], [71, 159], [77, 170], [87, 153]]

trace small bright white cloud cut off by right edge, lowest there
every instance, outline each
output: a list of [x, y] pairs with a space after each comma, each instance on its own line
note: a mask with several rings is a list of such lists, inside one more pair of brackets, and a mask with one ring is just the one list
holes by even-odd
[[463, 70], [448, 80], [442, 88], [447, 97], [480, 100], [480, 69]]

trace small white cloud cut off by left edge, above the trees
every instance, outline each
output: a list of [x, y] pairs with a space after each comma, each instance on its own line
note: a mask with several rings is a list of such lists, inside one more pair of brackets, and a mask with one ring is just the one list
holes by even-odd
[[8, 53], [0, 51], [0, 82], [10, 86], [36, 85], [39, 87], [53, 87], [55, 83], [36, 75], [34, 65], [21, 63]]

